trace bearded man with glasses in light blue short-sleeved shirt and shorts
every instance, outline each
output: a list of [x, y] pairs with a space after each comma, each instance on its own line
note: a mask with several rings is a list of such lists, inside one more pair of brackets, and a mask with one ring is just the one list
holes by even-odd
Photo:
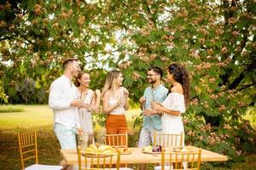
[[[150, 102], [162, 103], [166, 99], [168, 89], [161, 84], [163, 71], [157, 66], [148, 69], [148, 83], [150, 86], [145, 89], [143, 97], [139, 100], [141, 109], [143, 110], [143, 127], [140, 133], [138, 143], [139, 148], [143, 148], [153, 142], [154, 132], [161, 131], [161, 116], [157, 111], [150, 108]], [[148, 116], [146, 116], [148, 115]], [[141, 165], [141, 169], [145, 169], [145, 164]]]

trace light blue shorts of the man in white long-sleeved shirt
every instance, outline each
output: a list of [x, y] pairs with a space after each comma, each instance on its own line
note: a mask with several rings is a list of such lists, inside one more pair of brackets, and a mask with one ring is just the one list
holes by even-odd
[[54, 131], [62, 150], [74, 150], [77, 148], [74, 128], [70, 129], [61, 123], [55, 122]]

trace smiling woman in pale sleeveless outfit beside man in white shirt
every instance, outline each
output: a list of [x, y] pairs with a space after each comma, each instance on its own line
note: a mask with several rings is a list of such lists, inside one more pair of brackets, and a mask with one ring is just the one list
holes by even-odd
[[101, 91], [89, 88], [90, 75], [79, 72], [77, 77], [78, 99], [83, 101], [83, 108], [79, 109], [79, 122], [84, 133], [93, 133], [91, 111], [97, 112], [101, 104]]

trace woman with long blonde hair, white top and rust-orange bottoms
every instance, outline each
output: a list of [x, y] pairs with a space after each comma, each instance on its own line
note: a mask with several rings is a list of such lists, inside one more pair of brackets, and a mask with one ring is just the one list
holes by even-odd
[[[120, 71], [109, 71], [102, 89], [103, 112], [108, 114], [107, 134], [127, 133], [125, 111], [129, 109], [129, 93], [126, 88], [122, 87], [123, 81], [124, 78]], [[122, 141], [125, 142], [125, 139]], [[113, 141], [110, 143], [113, 145]]]

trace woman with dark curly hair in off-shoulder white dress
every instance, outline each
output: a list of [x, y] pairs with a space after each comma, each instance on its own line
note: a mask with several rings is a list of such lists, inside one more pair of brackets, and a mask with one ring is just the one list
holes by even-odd
[[162, 133], [184, 134], [181, 114], [186, 111], [186, 107], [189, 105], [189, 74], [182, 65], [173, 63], [168, 67], [167, 80], [172, 84], [170, 94], [162, 104], [151, 102], [151, 107], [164, 113], [162, 116]]

